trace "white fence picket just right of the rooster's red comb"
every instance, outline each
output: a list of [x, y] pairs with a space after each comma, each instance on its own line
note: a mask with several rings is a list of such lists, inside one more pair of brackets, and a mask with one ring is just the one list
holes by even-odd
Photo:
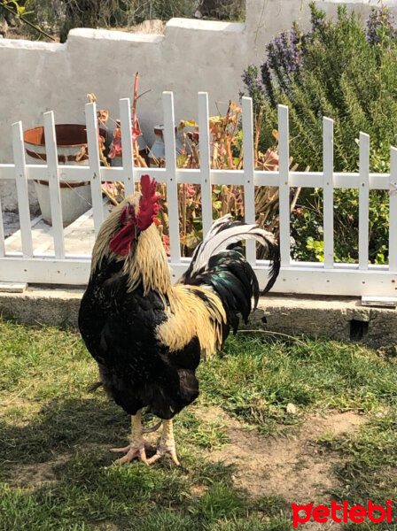
[[172, 92], [163, 92], [163, 110], [170, 255], [172, 262], [179, 262], [181, 260], [181, 245], [179, 242], [178, 185], [176, 182], [174, 94]]

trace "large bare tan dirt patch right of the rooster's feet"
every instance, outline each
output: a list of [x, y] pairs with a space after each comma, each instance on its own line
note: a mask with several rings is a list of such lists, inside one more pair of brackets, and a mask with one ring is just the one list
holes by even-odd
[[217, 419], [224, 425], [230, 444], [210, 452], [208, 458], [236, 466], [237, 487], [255, 497], [283, 496], [295, 504], [326, 502], [327, 491], [337, 484], [331, 471], [337, 456], [319, 455], [315, 441], [330, 432], [350, 433], [365, 422], [355, 412], [313, 415], [287, 436], [271, 438], [258, 434], [256, 429], [246, 429], [221, 408], [197, 408], [195, 413], [201, 419]]

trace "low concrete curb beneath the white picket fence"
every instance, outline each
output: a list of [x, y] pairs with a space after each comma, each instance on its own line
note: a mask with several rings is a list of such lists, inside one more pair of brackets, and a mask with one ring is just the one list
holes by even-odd
[[[0, 315], [18, 323], [77, 327], [82, 289], [29, 286], [24, 293], [0, 291]], [[268, 334], [307, 335], [386, 347], [397, 353], [397, 310], [370, 308], [354, 297], [280, 296], [260, 298], [247, 326]]]

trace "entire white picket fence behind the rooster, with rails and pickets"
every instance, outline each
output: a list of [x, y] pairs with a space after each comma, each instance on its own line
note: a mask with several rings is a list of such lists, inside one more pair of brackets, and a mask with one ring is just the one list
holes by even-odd
[[[243, 170], [213, 170], [210, 167], [210, 138], [208, 127], [208, 96], [199, 93], [200, 168], [177, 169], [175, 161], [175, 115], [172, 92], [163, 93], [165, 168], [134, 167], [131, 142], [131, 112], [128, 98], [120, 100], [123, 167], [107, 168], [100, 165], [97, 142], [96, 104], [86, 105], [86, 124], [90, 152], [89, 165], [59, 165], [53, 112], [44, 113], [46, 165], [27, 165], [21, 122], [12, 125], [14, 164], [0, 165], [0, 180], [14, 180], [17, 184], [22, 252], [6, 253], [3, 220], [0, 216], [0, 281], [81, 285], [88, 281], [90, 256], [66, 254], [64, 229], [59, 194], [59, 181], [90, 181], [95, 231], [104, 220], [101, 182], [122, 181], [126, 194], [134, 192], [135, 184], [144, 173], [150, 173], [159, 182], [167, 184], [169, 206], [170, 266], [176, 280], [186, 269], [189, 258], [181, 258], [178, 183], [199, 184], [202, 196], [204, 232], [212, 223], [212, 185], [243, 185], [245, 191], [245, 220], [255, 219], [254, 187], [279, 187], [281, 273], [275, 292], [344, 295], [344, 296], [397, 296], [397, 149], [392, 148], [390, 174], [370, 173], [370, 138], [360, 134], [360, 172], [334, 173], [333, 121], [323, 119], [323, 172], [290, 172], [288, 108], [278, 107], [279, 170], [254, 170], [253, 162], [253, 104], [243, 97]], [[54, 254], [35, 251], [29, 217], [27, 181], [48, 178], [51, 194]], [[323, 188], [324, 262], [296, 262], [290, 258], [290, 189], [291, 187]], [[359, 263], [337, 264], [333, 258], [333, 189], [359, 189]], [[373, 266], [368, 263], [369, 251], [369, 191], [389, 190], [390, 237], [389, 265]], [[255, 259], [253, 242], [247, 244], [247, 258], [258, 275], [261, 286], [266, 282], [269, 264]]]

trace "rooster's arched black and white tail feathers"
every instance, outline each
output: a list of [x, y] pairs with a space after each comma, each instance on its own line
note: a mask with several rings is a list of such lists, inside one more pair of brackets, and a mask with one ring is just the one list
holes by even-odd
[[228, 325], [238, 327], [238, 313], [245, 320], [258, 304], [260, 290], [252, 266], [237, 244], [242, 240], [260, 242], [269, 251], [269, 281], [265, 294], [274, 285], [280, 271], [280, 252], [274, 236], [256, 225], [233, 221], [230, 214], [215, 221], [191, 258], [191, 265], [181, 282], [212, 289], [222, 300]]

